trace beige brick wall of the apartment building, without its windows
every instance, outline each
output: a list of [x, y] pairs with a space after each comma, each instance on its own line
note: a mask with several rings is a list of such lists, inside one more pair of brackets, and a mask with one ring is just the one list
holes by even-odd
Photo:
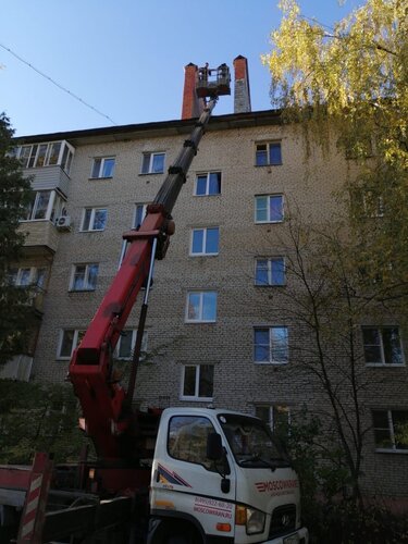
[[[61, 331], [87, 327], [118, 269], [122, 233], [132, 226], [135, 203], [150, 202], [164, 180], [164, 174], [140, 174], [143, 153], [165, 152], [166, 171], [191, 126], [181, 121], [63, 135], [75, 148], [66, 195], [72, 227], [54, 233], [58, 249], [34, 359], [35, 380], [58, 382], [65, 378], [69, 360], [58, 358]], [[256, 144], [262, 141], [281, 141], [282, 165], [255, 166]], [[289, 329], [288, 364], [254, 362], [254, 327], [286, 324], [273, 309], [264, 309], [268, 289], [274, 287], [254, 285], [255, 258], [282, 255], [277, 240], [286, 225], [256, 224], [255, 197], [283, 195], [286, 212], [296, 206], [302, 217], [318, 223], [335, 215], [332, 194], [354, 175], [350, 161], [334, 145], [329, 154], [314, 146], [308, 158], [305, 149], [301, 129], [280, 124], [274, 112], [215, 116], [210, 123], [173, 210], [176, 233], [169, 254], [156, 264], [147, 321], [150, 355], [141, 363], [135, 396], [143, 408], [196, 404], [181, 398], [185, 364], [213, 364], [210, 404], [214, 407], [251, 413], [256, 405], [263, 404], [287, 405], [293, 410], [305, 404], [318, 413], [324, 408], [316, 380], [305, 378], [297, 369], [292, 346], [301, 338], [299, 331]], [[94, 158], [103, 157], [115, 158], [113, 177], [90, 178]], [[221, 194], [195, 196], [196, 175], [217, 171], [222, 173]], [[108, 210], [103, 231], [81, 231], [85, 208]], [[191, 257], [191, 228], [214, 226], [220, 232], [219, 254]], [[73, 267], [86, 263], [99, 264], [95, 292], [71, 292]], [[217, 292], [215, 322], [186, 322], [190, 290]], [[276, 293], [274, 296], [280, 297]], [[284, 297], [274, 300], [284, 304]], [[136, 329], [137, 320], [136, 308], [127, 326]], [[370, 418], [370, 409], [375, 407], [408, 409], [406, 366], [361, 371], [372, 382], [367, 390], [364, 418]], [[374, 453], [373, 433], [368, 436], [363, 467], [367, 486], [406, 497], [408, 456]]]

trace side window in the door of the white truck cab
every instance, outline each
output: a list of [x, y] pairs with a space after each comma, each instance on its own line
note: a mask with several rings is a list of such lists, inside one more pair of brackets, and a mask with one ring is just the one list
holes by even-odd
[[[170, 420], [168, 452], [174, 459], [202, 465], [207, 469], [213, 461], [207, 458], [207, 440], [215, 432], [212, 423], [202, 416], [175, 416]], [[159, 471], [163, 470], [159, 466]]]

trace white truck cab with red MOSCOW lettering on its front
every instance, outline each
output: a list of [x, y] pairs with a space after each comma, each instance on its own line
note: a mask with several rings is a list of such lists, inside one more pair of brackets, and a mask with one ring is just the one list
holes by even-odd
[[296, 472], [258, 418], [168, 408], [150, 486], [151, 544], [307, 544]]

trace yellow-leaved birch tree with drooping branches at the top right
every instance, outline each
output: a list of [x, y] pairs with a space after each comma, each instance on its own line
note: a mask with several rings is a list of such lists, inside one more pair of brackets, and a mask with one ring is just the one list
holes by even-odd
[[[345, 187], [349, 202], [379, 203], [382, 221], [355, 214], [359, 256], [373, 275], [408, 284], [408, 13], [405, 0], [367, 0], [333, 29], [304, 17], [296, 0], [281, 2], [283, 20], [262, 57], [273, 103], [284, 116], [313, 127], [324, 146], [359, 163]], [[379, 213], [375, 212], [378, 215]], [[358, 264], [356, 262], [356, 264]], [[361, 264], [362, 265], [362, 264]], [[392, 269], [392, 274], [390, 273]]]

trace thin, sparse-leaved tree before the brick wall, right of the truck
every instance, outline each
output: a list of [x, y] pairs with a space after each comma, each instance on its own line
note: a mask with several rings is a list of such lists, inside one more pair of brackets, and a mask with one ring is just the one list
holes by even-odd
[[[347, 490], [362, 505], [360, 481], [372, 431], [368, 406], [387, 387], [386, 380], [379, 384], [367, 371], [361, 325], [367, 316], [374, 323], [384, 317], [394, 322], [394, 308], [382, 302], [394, 290], [355, 267], [359, 245], [341, 215], [313, 224], [293, 206], [285, 230], [273, 239], [260, 237], [254, 247], [255, 255], [270, 255], [273, 247], [285, 256], [285, 286], [268, 289], [268, 298], [256, 304], [267, 322], [288, 326], [297, 386], [302, 384], [306, 398], [319, 398], [306, 406], [307, 413], [293, 412], [288, 436], [310, 504], [317, 490], [329, 502]], [[406, 304], [407, 294], [398, 300]], [[393, 363], [403, 363], [398, 330], [393, 334]]]

